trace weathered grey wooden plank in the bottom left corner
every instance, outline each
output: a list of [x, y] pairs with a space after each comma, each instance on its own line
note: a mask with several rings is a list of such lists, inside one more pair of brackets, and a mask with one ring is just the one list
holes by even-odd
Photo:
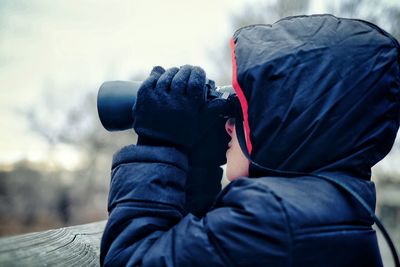
[[0, 266], [99, 266], [105, 223], [0, 238]]

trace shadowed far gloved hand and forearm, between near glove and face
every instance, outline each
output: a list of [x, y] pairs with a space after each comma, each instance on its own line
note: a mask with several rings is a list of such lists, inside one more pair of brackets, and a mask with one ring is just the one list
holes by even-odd
[[222, 168], [230, 140], [225, 130], [226, 101], [209, 98], [207, 110], [201, 119], [198, 142], [189, 154], [189, 172], [186, 181], [186, 210], [202, 217], [221, 191]]

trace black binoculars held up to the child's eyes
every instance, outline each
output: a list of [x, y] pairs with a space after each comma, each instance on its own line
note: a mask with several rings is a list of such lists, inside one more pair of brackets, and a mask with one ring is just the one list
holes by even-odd
[[[133, 107], [142, 82], [107, 81], [97, 94], [97, 112], [103, 127], [108, 131], [123, 131], [132, 128], [135, 114]], [[231, 86], [215, 87], [212, 80], [206, 82], [207, 100], [217, 100], [220, 114], [228, 117], [238, 106], [236, 93]], [[224, 110], [223, 112], [221, 110]]]

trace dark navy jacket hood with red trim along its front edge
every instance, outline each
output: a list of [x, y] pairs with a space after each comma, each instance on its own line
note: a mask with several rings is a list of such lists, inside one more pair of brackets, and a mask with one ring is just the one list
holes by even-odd
[[241, 28], [231, 48], [254, 162], [370, 179], [399, 127], [395, 38], [366, 21], [297, 16]]

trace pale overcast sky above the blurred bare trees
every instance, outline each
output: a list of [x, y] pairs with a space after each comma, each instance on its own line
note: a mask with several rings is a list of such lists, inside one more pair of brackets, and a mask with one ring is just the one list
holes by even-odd
[[[155, 65], [199, 65], [216, 76], [210, 51], [229, 45], [231, 15], [258, 1], [1, 0], [0, 164], [46, 160], [48, 145], [30, 130], [26, 110], [50, 106], [47, 119], [57, 125], [103, 81], [130, 80]], [[311, 13], [324, 13], [324, 3], [311, 1]], [[54, 155], [78, 161], [68, 146]]]

